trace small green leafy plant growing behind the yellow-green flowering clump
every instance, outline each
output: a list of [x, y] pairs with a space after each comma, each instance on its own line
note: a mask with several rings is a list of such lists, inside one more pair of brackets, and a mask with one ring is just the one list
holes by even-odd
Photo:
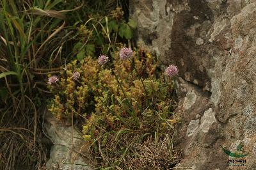
[[104, 17], [99, 13], [92, 13], [84, 24], [76, 23], [77, 43], [73, 47], [73, 52], [77, 60], [81, 61], [84, 56], [95, 58], [100, 54], [108, 54], [109, 50], [115, 52], [116, 47], [120, 47], [119, 39], [130, 41], [136, 23], [131, 19], [125, 22], [123, 15], [122, 8], [117, 7]]

